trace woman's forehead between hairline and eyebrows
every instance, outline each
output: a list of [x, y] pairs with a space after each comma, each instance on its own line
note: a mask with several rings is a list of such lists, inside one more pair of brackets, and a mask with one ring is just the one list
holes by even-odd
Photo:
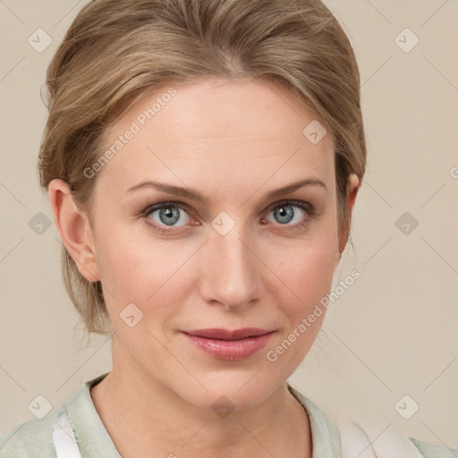
[[310, 141], [308, 126], [316, 130], [316, 123], [289, 92], [264, 81], [165, 86], [145, 94], [106, 132], [105, 147], [115, 154], [100, 176], [119, 191], [151, 178], [202, 189], [224, 180], [239, 191], [242, 182], [251, 190], [308, 176], [330, 182], [334, 142], [330, 133]]

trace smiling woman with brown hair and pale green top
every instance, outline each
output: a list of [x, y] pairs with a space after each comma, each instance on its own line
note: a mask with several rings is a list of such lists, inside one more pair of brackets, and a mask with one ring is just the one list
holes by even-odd
[[344, 437], [369, 453], [286, 382], [366, 165], [358, 65], [325, 5], [92, 1], [47, 87], [41, 185], [113, 369], [1, 456], [338, 457]]

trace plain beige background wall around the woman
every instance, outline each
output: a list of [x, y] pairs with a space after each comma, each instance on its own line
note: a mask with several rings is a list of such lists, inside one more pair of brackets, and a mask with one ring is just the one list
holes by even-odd
[[[52, 219], [36, 174], [47, 115], [39, 89], [84, 3], [0, 2], [0, 434], [33, 418], [38, 394], [56, 409], [111, 364], [106, 337], [83, 347], [54, 223], [41, 234], [30, 227], [38, 212]], [[458, 446], [458, 2], [326, 3], [360, 62], [369, 165], [354, 250], [335, 282], [353, 268], [360, 279], [329, 308], [290, 381], [335, 419]], [[53, 39], [42, 53], [28, 43], [38, 28]], [[405, 28], [420, 38], [408, 53], [395, 42]], [[404, 212], [419, 223], [408, 234], [395, 225]], [[404, 412], [420, 405], [410, 420], [394, 408], [405, 394]]]

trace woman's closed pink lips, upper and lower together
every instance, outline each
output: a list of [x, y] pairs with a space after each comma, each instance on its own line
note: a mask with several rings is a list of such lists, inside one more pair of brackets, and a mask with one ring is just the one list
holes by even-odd
[[223, 328], [182, 331], [191, 344], [217, 360], [244, 360], [267, 345], [275, 330], [246, 327], [233, 331]]

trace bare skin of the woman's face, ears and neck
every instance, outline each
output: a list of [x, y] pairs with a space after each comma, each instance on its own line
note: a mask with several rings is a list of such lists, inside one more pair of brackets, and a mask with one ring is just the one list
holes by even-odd
[[[285, 380], [309, 352], [325, 314], [276, 361], [267, 352], [330, 291], [348, 238], [337, 230], [334, 140], [328, 133], [311, 143], [302, 131], [313, 114], [266, 82], [205, 80], [174, 88], [174, 98], [103, 166], [91, 224], [65, 182], [49, 185], [62, 240], [81, 274], [102, 282], [114, 328], [113, 369], [91, 396], [124, 458], [311, 457], [308, 416]], [[124, 114], [106, 132], [106, 147], [166, 89]], [[308, 178], [327, 189], [309, 185], [265, 197]], [[152, 188], [127, 192], [145, 180], [196, 189], [208, 202]], [[352, 175], [351, 210], [358, 189]], [[286, 199], [310, 203], [315, 216], [282, 205]], [[166, 225], [159, 210], [141, 215], [161, 202], [179, 204], [183, 209], [171, 209], [180, 219]], [[279, 207], [293, 216], [288, 220]], [[234, 223], [225, 235], [211, 225], [221, 212]], [[120, 318], [131, 302], [143, 313], [134, 327]], [[227, 361], [196, 349], [180, 332], [208, 327], [276, 333], [257, 354]], [[221, 396], [233, 405], [225, 418], [212, 409]]]

